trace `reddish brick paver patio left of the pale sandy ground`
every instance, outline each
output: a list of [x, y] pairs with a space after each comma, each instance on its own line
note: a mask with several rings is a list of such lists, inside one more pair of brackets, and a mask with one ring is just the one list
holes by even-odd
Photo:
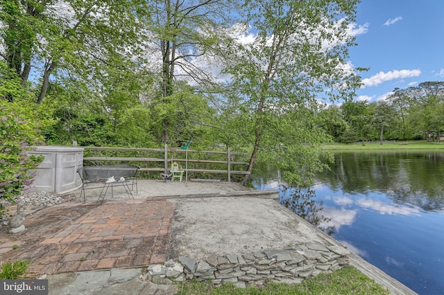
[[1, 231], [1, 260], [32, 260], [29, 269], [38, 274], [164, 262], [173, 211], [164, 199], [42, 208], [27, 216], [24, 233]]

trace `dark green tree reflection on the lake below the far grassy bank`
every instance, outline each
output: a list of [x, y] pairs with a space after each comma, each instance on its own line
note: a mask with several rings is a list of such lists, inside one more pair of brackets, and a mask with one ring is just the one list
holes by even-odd
[[340, 152], [331, 171], [318, 179], [345, 193], [379, 190], [395, 204], [413, 204], [425, 211], [444, 208], [444, 153]]

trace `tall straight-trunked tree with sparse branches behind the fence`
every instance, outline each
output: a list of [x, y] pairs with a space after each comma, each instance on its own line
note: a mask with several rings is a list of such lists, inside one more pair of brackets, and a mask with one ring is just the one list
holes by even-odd
[[[151, 55], [150, 66], [156, 66], [160, 97], [151, 100], [153, 105], [174, 104], [173, 95], [178, 95], [185, 81], [194, 87], [196, 92], [208, 93], [221, 91], [216, 78], [205, 68], [218, 63], [224, 43], [223, 32], [232, 24], [230, 12], [235, 1], [152, 1], [151, 19], [146, 20], [148, 54]], [[160, 50], [160, 53], [158, 52]], [[160, 60], [154, 60], [160, 58]], [[189, 89], [185, 87], [185, 92]], [[186, 93], [185, 93], [186, 94]], [[173, 127], [171, 112], [153, 113], [162, 116], [162, 141], [170, 141], [169, 129]], [[172, 140], [174, 141], [174, 139]]]

